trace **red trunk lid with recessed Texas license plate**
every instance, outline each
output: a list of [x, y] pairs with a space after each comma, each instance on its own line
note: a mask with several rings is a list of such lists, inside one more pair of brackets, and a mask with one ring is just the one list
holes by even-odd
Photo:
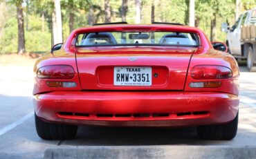
[[[196, 49], [147, 46], [78, 48], [76, 60], [82, 90], [182, 91], [190, 57]], [[140, 75], [136, 74], [142, 70], [144, 72]], [[136, 76], [136, 80], [135, 77], [129, 79], [131, 76]], [[118, 85], [124, 80], [129, 80], [126, 83], [129, 85]], [[131, 82], [134, 80], [136, 83]]]

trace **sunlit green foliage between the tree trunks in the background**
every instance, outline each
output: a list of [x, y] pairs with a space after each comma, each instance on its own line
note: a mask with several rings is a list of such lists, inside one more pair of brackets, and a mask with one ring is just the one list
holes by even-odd
[[[0, 0], [0, 53], [17, 52], [17, 17], [16, 3], [22, 0]], [[54, 10], [53, 0], [26, 0], [24, 6], [24, 30], [26, 50], [28, 52], [48, 51], [51, 48], [51, 16]], [[155, 8], [155, 21], [188, 24], [189, 0], [142, 0], [141, 22], [151, 23], [152, 4]], [[121, 21], [122, 0], [110, 0], [111, 21]], [[69, 35], [69, 15], [73, 13], [73, 28], [88, 26], [90, 8], [93, 23], [104, 22], [104, 0], [61, 0], [63, 37]], [[199, 28], [210, 37], [210, 21], [217, 18], [217, 38], [226, 41], [226, 33], [221, 32], [221, 23], [235, 22], [235, 0], [195, 0], [196, 21]], [[240, 12], [256, 7], [255, 0], [241, 0]], [[7, 9], [6, 9], [7, 8]], [[127, 22], [135, 22], [135, 1], [128, 1]], [[42, 16], [44, 15], [44, 18]], [[44, 26], [43, 26], [44, 21]]]

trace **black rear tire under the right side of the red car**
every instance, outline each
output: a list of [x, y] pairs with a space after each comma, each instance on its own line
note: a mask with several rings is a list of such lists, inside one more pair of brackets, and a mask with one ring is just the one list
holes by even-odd
[[198, 137], [203, 140], [232, 140], [237, 135], [238, 114], [227, 124], [198, 126]]

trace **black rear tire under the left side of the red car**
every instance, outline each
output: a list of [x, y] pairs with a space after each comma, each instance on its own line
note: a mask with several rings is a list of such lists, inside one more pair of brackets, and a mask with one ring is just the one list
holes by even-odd
[[44, 140], [73, 139], [77, 133], [77, 126], [44, 122], [37, 115], [35, 115], [35, 127], [39, 137]]

